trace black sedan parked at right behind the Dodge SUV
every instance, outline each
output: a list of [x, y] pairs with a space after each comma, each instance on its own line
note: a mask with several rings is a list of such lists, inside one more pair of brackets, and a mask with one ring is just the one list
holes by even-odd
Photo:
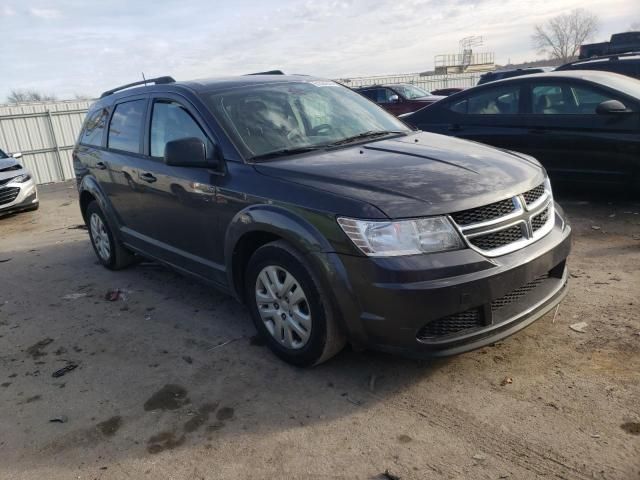
[[554, 181], [640, 188], [640, 80], [562, 71], [483, 84], [402, 117], [537, 158]]

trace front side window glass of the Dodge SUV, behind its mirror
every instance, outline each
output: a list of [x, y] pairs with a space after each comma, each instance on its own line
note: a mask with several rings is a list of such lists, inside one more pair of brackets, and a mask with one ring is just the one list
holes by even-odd
[[156, 102], [151, 117], [152, 157], [163, 157], [167, 142], [181, 138], [199, 138], [207, 147], [207, 154], [213, 152], [213, 145], [189, 112], [175, 102]]

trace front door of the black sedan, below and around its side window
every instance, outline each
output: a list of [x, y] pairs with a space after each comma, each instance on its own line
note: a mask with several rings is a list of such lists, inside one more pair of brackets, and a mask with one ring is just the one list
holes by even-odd
[[[636, 102], [574, 79], [530, 80], [526, 153], [555, 180], [626, 184], [640, 154]], [[597, 106], [619, 100], [634, 113], [598, 114]]]

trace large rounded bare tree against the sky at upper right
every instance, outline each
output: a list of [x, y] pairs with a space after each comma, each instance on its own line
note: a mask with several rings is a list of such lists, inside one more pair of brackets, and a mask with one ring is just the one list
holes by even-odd
[[539, 53], [568, 62], [580, 51], [580, 45], [598, 31], [599, 21], [593, 13], [577, 8], [536, 25], [532, 40]]

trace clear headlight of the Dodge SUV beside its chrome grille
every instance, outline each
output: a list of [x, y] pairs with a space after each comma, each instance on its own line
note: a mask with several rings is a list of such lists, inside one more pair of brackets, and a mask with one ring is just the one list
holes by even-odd
[[338, 218], [338, 224], [370, 257], [396, 257], [463, 248], [462, 240], [445, 217], [368, 221]]

